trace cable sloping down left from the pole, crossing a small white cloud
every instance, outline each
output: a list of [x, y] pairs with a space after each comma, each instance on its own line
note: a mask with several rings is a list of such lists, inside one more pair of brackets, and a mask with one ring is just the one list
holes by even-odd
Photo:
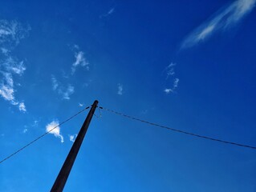
[[[89, 108], [90, 108], [90, 106], [87, 106], [87, 107], [84, 108], [83, 110], [80, 110], [78, 113], [72, 115], [70, 118], [67, 118], [65, 121], [59, 123], [58, 126], [61, 126], [61, 125], [63, 125], [64, 123], [70, 121], [72, 118], [75, 118], [75, 116], [77, 116], [78, 114], [83, 113], [84, 110], [87, 110], [87, 109], [89, 109]], [[58, 126], [55, 126], [55, 127], [52, 128], [51, 130], [47, 131], [45, 134], [42, 134], [42, 135], [40, 135], [38, 138], [35, 138], [33, 141], [27, 143], [26, 146], [22, 146], [22, 148], [16, 150], [14, 153], [10, 154], [10, 155], [7, 156], [6, 158], [3, 158], [3, 159], [0, 161], [0, 164], [1, 164], [2, 162], [5, 162], [7, 159], [11, 158], [11, 157], [14, 156], [15, 154], [18, 154], [18, 152], [24, 150], [26, 147], [30, 146], [30, 145], [33, 144], [34, 142], [37, 142], [40, 138], [43, 138], [45, 135], [49, 134], [52, 130], [55, 130]]]

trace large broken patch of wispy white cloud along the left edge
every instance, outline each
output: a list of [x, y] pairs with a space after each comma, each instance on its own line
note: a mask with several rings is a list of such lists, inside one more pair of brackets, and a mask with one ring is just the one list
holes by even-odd
[[22, 76], [26, 67], [23, 61], [18, 61], [12, 55], [12, 50], [26, 37], [29, 30], [29, 26], [22, 26], [17, 21], [0, 20], [0, 95], [23, 112], [26, 111], [24, 102], [18, 102], [14, 96], [14, 77]]

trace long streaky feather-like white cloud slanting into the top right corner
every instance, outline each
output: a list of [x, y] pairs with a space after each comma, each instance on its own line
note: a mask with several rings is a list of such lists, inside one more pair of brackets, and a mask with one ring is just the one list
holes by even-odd
[[234, 26], [242, 18], [254, 9], [256, 0], [237, 0], [230, 5], [221, 8], [217, 13], [213, 14], [207, 22], [198, 26], [191, 34], [181, 43], [181, 49], [189, 48], [204, 42], [211, 35], [220, 30], [226, 30], [230, 26]]

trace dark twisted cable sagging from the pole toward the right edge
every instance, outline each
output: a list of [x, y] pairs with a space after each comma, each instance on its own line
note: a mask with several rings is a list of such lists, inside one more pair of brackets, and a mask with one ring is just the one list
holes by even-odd
[[100, 106], [100, 109], [107, 110], [109, 112], [112, 112], [113, 114], [118, 114], [118, 115], [123, 116], [125, 118], [130, 118], [130, 119], [136, 120], [138, 122], [144, 122], [144, 123], [152, 125], [152, 126], [158, 126], [158, 127], [161, 127], [161, 128], [165, 128], [167, 130], [173, 130], [173, 131], [179, 132], [181, 134], [189, 134], [189, 135], [197, 137], [197, 138], [205, 138], [205, 139], [208, 139], [208, 140], [212, 140], [214, 142], [222, 142], [222, 143], [231, 144], [231, 145], [234, 145], [234, 146], [242, 146], [242, 147], [247, 147], [247, 148], [256, 150], [256, 146], [248, 146], [248, 145], [244, 145], [244, 144], [241, 144], [241, 143], [238, 143], [238, 142], [228, 142], [228, 141], [221, 140], [221, 139], [218, 139], [218, 138], [210, 138], [210, 137], [200, 135], [200, 134], [193, 134], [193, 133], [187, 132], [185, 130], [173, 129], [173, 128], [170, 128], [169, 126], [161, 126], [161, 125], [153, 123], [153, 122], [144, 121], [144, 120], [141, 120], [140, 118], [134, 118], [134, 117], [129, 116], [127, 114], [122, 114], [120, 112], [116, 112], [115, 110], [109, 110], [109, 109], [104, 108], [102, 106]]

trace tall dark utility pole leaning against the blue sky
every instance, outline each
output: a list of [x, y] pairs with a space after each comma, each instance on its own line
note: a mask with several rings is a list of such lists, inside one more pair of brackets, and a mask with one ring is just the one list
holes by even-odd
[[91, 110], [87, 114], [87, 118], [83, 122], [83, 126], [81, 127], [79, 134], [77, 135], [75, 142], [71, 147], [71, 150], [69, 151], [69, 154], [67, 155], [65, 162], [63, 163], [61, 170], [59, 171], [59, 175], [56, 178], [55, 183], [51, 188], [51, 192], [63, 191], [65, 183], [67, 182], [68, 175], [71, 172], [72, 166], [75, 162], [76, 155], [79, 152], [80, 146], [83, 142], [83, 138], [87, 132], [88, 126], [90, 125], [91, 118], [95, 112], [97, 105], [98, 105], [98, 101], [95, 100], [95, 102], [91, 106]]

